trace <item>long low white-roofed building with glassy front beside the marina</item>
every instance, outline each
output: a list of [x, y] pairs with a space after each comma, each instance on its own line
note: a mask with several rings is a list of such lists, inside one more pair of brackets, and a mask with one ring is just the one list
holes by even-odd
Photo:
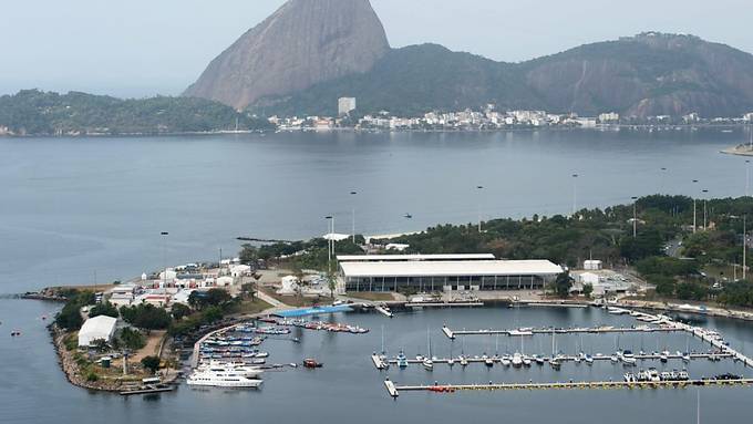
[[563, 272], [548, 260], [497, 260], [487, 255], [358, 258], [340, 260], [345, 291], [398, 291], [406, 287], [419, 291], [540, 289]]

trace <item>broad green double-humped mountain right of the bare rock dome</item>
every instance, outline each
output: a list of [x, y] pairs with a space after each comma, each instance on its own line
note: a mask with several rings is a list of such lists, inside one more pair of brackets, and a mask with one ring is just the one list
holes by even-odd
[[337, 113], [354, 96], [360, 113], [540, 108], [595, 115], [740, 116], [753, 110], [753, 55], [693, 35], [649, 32], [581, 45], [522, 63], [495, 62], [435, 44], [391, 50], [370, 71], [250, 104], [266, 114]]

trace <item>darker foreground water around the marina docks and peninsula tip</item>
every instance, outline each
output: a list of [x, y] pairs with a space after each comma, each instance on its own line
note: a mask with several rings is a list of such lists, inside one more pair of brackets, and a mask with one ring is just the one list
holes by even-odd
[[[417, 365], [406, 370], [391, 369], [386, 373], [374, 370], [369, 355], [381, 345], [381, 325], [384, 325], [385, 348], [395, 354], [405, 349], [413, 356], [426, 353], [426, 329], [431, 329], [433, 353], [446, 355], [451, 342], [442, 335], [440, 327], [447, 323], [454, 328], [507, 328], [513, 325], [591, 325], [632, 324], [629, 318], [616, 318], [600, 310], [549, 310], [549, 309], [476, 309], [463, 311], [424, 311], [399, 314], [390, 320], [380, 314], [338, 314], [338, 321], [358, 323], [372, 329], [365, 335], [329, 334], [323, 332], [300, 332], [300, 344], [289, 341], [267, 341], [265, 349], [271, 353], [272, 362], [300, 361], [316, 356], [324, 368], [310, 371], [305, 369], [267, 373], [264, 389], [259, 392], [192, 390], [183, 385], [177, 392], [156, 397], [123, 399], [117, 395], [91, 394], [70, 386], [55, 364], [54, 352], [39, 316], [49, 312], [50, 307], [40, 302], [1, 301], [0, 316], [3, 328], [20, 325], [24, 335], [0, 342], [0, 422], [2, 423], [101, 423], [106, 416], [109, 423], [186, 423], [186, 422], [236, 422], [248, 420], [260, 423], [298, 423], [300, 421], [347, 423], [457, 423], [505, 422], [516, 423], [610, 423], [633, 424], [636, 417], [650, 417], [651, 422], [689, 423], [695, 420], [695, 390], [594, 390], [594, 391], [507, 391], [507, 392], [458, 392], [452, 395], [431, 393], [403, 393], [392, 401], [385, 393], [382, 381], [385, 375], [402, 384], [440, 382], [484, 383], [488, 381], [565, 381], [621, 379], [625, 370], [609, 361], [588, 366], [565, 364], [560, 372], [548, 365], [532, 365], [529, 370], [504, 369], [495, 365], [486, 369], [482, 364], [463, 370], [436, 365], [427, 373]], [[722, 330], [728, 340], [739, 348], [753, 347], [753, 332], [749, 327], [731, 321], [711, 321], [710, 325]], [[638, 335], [617, 338], [585, 335], [557, 337], [557, 347], [565, 352], [577, 352], [580, 345], [586, 351], [611, 352], [619, 342], [621, 348], [638, 350], [643, 343], [647, 350], [659, 344], [670, 350], [705, 350], [695, 340], [685, 335], [656, 337]], [[520, 349], [520, 339], [501, 338], [499, 352]], [[456, 340], [453, 354], [464, 350], [468, 354], [495, 351], [495, 339], [467, 337], [465, 347]], [[551, 352], [548, 335], [526, 338], [525, 352]], [[33, 352], [33, 354], [28, 354]], [[652, 363], [660, 370], [660, 363]], [[649, 366], [646, 363], [643, 366]], [[671, 361], [667, 369], [682, 368], [679, 361]], [[712, 375], [721, 372], [736, 372], [753, 375], [731, 361], [710, 363], [693, 361], [688, 366], [692, 376]], [[742, 423], [750, 420], [753, 405], [752, 389], [703, 389], [701, 390], [702, 422]]]

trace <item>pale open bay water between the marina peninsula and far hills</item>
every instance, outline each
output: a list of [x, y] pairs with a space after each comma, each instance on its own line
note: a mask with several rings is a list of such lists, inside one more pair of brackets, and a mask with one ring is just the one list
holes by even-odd
[[[364, 234], [475, 221], [479, 210], [569, 213], [574, 173], [579, 207], [657, 192], [740, 196], [744, 161], [718, 152], [744, 138], [719, 131], [0, 138], [0, 293], [130, 278], [165, 261], [217, 258], [220, 248], [233, 255], [241, 235], [319, 236], [328, 215], [350, 232], [353, 208]], [[161, 231], [169, 236], [161, 240]]]

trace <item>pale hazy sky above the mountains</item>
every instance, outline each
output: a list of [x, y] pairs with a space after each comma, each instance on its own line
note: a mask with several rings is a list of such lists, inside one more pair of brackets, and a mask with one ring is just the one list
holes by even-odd
[[[283, 0], [3, 0], [0, 94], [177, 95]], [[371, 0], [392, 46], [518, 62], [643, 31], [753, 52], [750, 0]]]

